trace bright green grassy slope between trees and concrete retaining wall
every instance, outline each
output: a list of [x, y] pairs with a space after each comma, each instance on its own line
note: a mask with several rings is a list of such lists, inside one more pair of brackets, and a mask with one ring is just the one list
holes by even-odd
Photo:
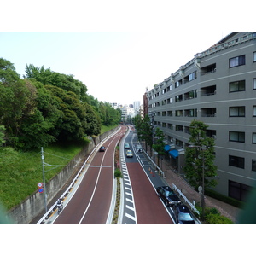
[[[115, 126], [102, 127], [102, 133]], [[81, 149], [82, 145], [51, 145], [44, 148], [44, 161], [50, 165], [67, 165]], [[41, 151], [17, 152], [13, 148], [2, 148], [0, 157], [0, 201], [9, 210], [32, 195], [38, 183], [43, 182]], [[51, 168], [45, 167], [46, 182], [62, 169]]]

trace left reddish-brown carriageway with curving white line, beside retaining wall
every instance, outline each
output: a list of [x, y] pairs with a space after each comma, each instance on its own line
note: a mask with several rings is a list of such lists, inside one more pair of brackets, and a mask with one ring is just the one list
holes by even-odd
[[[108, 219], [113, 195], [114, 150], [125, 127], [104, 143], [105, 152], [97, 152], [84, 174], [79, 188], [64, 201], [64, 209], [55, 224], [104, 224]], [[94, 167], [95, 166], [95, 167]]]

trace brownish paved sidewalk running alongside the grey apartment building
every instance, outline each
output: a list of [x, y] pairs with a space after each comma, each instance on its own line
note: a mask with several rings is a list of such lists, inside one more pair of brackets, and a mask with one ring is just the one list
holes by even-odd
[[[195, 201], [196, 203], [200, 203], [200, 195], [197, 191], [191, 188], [189, 183], [187, 183], [183, 177], [178, 175], [176, 172], [172, 171], [172, 167], [167, 160], [162, 160], [160, 164], [162, 166], [162, 171], [165, 173], [165, 181], [172, 188], [172, 183], [174, 183], [178, 189], [183, 192], [190, 202]], [[237, 207], [233, 207], [223, 201], [218, 201], [212, 197], [205, 196], [206, 207], [214, 207], [227, 218], [230, 218], [234, 223], [237, 223], [237, 218], [241, 209]]]

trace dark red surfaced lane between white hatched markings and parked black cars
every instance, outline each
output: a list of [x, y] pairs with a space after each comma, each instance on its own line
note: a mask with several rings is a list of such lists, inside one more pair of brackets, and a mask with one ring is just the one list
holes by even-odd
[[138, 224], [173, 224], [139, 163], [126, 163], [131, 179]]

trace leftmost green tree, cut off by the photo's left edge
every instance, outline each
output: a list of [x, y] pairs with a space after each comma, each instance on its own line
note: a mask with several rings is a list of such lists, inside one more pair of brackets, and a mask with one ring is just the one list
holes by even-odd
[[35, 109], [37, 91], [20, 79], [12, 63], [0, 59], [0, 95], [0, 123], [6, 128], [7, 143], [17, 146], [22, 122]]

